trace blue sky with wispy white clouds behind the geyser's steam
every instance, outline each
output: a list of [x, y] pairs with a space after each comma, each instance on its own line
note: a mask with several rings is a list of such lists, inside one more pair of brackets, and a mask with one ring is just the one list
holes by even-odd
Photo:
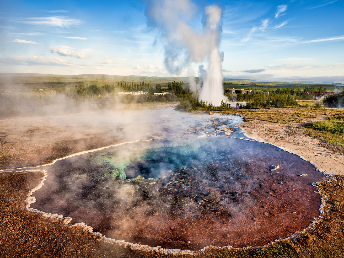
[[[190, 24], [202, 29], [193, 1]], [[226, 78], [344, 83], [344, 0], [222, 1]], [[0, 72], [176, 76], [145, 1], [1, 1]], [[204, 60], [206, 66], [206, 60]], [[199, 63], [179, 76], [198, 75]]]

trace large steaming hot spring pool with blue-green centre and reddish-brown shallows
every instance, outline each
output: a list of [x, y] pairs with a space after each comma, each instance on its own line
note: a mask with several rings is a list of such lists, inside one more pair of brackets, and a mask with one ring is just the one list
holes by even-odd
[[311, 183], [321, 181], [321, 173], [261, 142], [203, 137], [128, 143], [45, 170], [49, 176], [31, 208], [142, 245], [266, 245], [319, 216], [320, 195]]

